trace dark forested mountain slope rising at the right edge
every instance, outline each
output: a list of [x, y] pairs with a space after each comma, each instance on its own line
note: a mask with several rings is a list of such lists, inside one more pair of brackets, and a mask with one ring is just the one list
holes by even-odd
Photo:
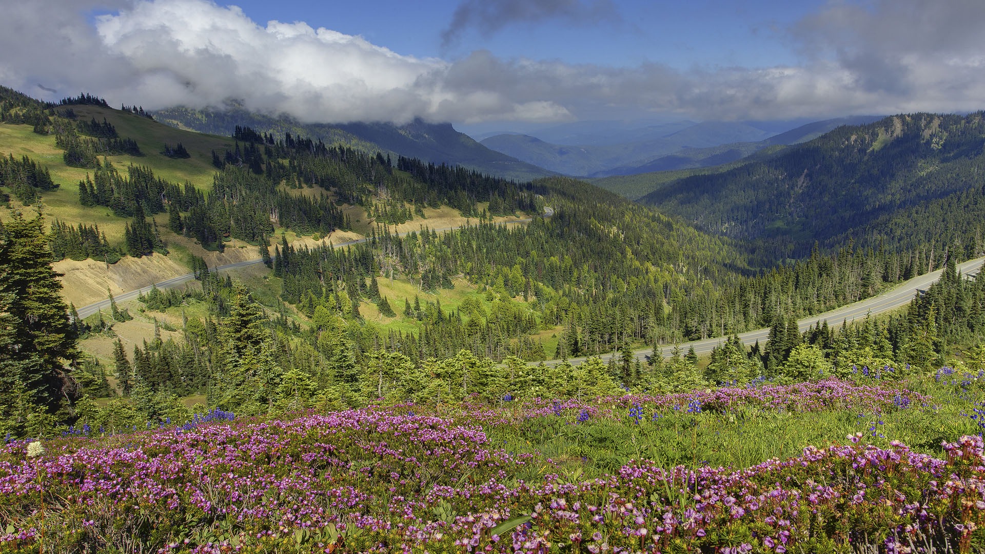
[[[642, 201], [706, 231], [791, 248], [794, 255], [816, 241], [835, 245], [850, 236], [902, 241], [917, 233], [940, 243], [932, 232], [940, 222], [903, 214], [921, 206], [934, 213], [943, 205], [961, 206], [947, 217], [975, 221], [975, 210], [985, 204], [978, 201], [985, 193], [983, 147], [981, 112], [895, 115], [838, 127], [725, 172], [681, 178]], [[887, 235], [891, 228], [908, 231]], [[952, 240], [967, 243], [976, 228], [961, 228]]]

